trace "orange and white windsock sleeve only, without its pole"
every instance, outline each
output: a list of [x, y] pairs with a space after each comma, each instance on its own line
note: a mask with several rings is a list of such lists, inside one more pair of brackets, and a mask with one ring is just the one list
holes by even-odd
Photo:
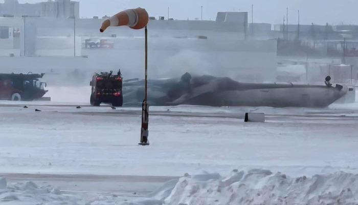
[[100, 31], [105, 31], [110, 26], [128, 26], [132, 29], [142, 29], [147, 26], [149, 21], [148, 12], [145, 9], [127, 9], [106, 19]]

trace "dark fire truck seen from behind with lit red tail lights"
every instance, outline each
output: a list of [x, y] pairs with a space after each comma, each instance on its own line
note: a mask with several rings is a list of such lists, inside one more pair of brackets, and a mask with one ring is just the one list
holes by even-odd
[[92, 86], [92, 106], [100, 106], [101, 103], [112, 104], [115, 107], [123, 105], [121, 70], [117, 75], [114, 75], [113, 71], [95, 73], [89, 85]]

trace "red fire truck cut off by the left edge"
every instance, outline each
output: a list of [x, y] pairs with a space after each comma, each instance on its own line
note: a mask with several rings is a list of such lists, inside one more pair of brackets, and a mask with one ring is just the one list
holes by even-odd
[[48, 92], [44, 88], [46, 83], [39, 80], [44, 73], [41, 74], [0, 74], [0, 99], [2, 100], [34, 100], [41, 98]]

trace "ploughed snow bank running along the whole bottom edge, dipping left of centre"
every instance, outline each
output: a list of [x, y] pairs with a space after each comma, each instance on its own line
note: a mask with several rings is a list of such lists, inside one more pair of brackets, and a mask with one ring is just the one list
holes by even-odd
[[[90, 198], [63, 195], [52, 186], [40, 187], [34, 182], [9, 185], [0, 179], [1, 204], [78, 204], [78, 205], [210, 205], [210, 204], [356, 204], [358, 175], [336, 172], [312, 177], [289, 177], [280, 172], [255, 169], [233, 170], [229, 176], [216, 173], [185, 174], [168, 181], [148, 198], [122, 200], [115, 196]], [[5, 187], [4, 187], [5, 185]], [[5, 189], [3, 189], [5, 188]], [[134, 198], [133, 198], [134, 199]]]

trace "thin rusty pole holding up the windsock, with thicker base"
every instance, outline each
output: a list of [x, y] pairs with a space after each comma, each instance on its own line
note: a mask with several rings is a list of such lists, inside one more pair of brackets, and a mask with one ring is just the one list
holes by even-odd
[[145, 27], [145, 94], [142, 104], [142, 129], [141, 129], [141, 142], [139, 145], [146, 146], [149, 145], [148, 141], [148, 126], [149, 126], [149, 106], [147, 103], [147, 90], [148, 90], [148, 30], [147, 26]]

